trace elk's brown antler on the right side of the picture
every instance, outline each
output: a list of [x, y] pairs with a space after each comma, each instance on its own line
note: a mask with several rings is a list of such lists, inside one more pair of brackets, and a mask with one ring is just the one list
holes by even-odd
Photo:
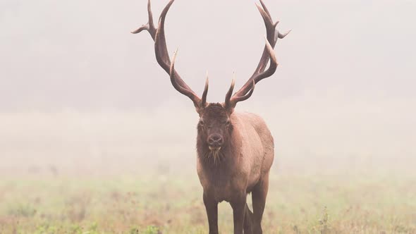
[[[260, 4], [262, 4], [262, 6], [259, 6], [259, 4], [257, 3], [256, 6], [260, 11], [260, 14], [262, 15], [262, 18], [264, 20], [264, 25], [266, 26], [266, 45], [264, 46], [262, 57], [260, 58], [259, 65], [257, 65], [255, 72], [252, 74], [251, 78], [248, 79], [247, 82], [245, 82], [243, 87], [241, 87], [241, 89], [238, 90], [238, 92], [235, 92], [235, 94], [232, 97], [231, 94], [233, 92], [234, 82], [231, 84], [231, 87], [228, 90], [228, 93], [226, 94], [225, 101], [226, 106], [228, 106], [229, 108], [234, 108], [238, 101], [244, 101], [245, 99], [248, 99], [251, 96], [255, 84], [257, 84], [257, 82], [263, 80], [264, 78], [268, 78], [274, 74], [278, 66], [276, 55], [274, 54], [273, 50], [274, 46], [276, 45], [277, 39], [283, 39], [290, 32], [289, 30], [288, 32], [282, 34], [281, 32], [279, 32], [279, 30], [276, 30], [276, 26], [277, 24], [279, 24], [279, 21], [273, 23], [269, 10], [267, 9], [263, 0], [260, 0]], [[269, 60], [270, 66], [267, 70], [265, 70], [267, 62]]]

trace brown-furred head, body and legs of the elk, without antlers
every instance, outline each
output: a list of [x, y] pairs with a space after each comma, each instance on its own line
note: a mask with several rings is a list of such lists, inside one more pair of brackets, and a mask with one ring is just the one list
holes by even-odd
[[[204, 189], [209, 233], [218, 233], [217, 204], [222, 201], [233, 207], [234, 233], [243, 233], [243, 229], [245, 233], [262, 233], [269, 170], [274, 159], [273, 137], [259, 116], [230, 112], [221, 104], [209, 104], [200, 111], [204, 124], [198, 124], [197, 173]], [[226, 121], [231, 125], [224, 125]], [[224, 137], [217, 159], [207, 143], [207, 133], [213, 130]], [[250, 192], [254, 213], [246, 204]]]

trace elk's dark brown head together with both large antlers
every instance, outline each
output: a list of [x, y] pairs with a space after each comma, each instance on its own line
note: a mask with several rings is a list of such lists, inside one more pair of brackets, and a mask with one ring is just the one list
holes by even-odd
[[[192, 100], [195, 109], [200, 116], [200, 121], [197, 127], [198, 141], [204, 142], [204, 147], [209, 149], [210, 152], [218, 153], [221, 147], [224, 147], [224, 145], [227, 144], [231, 136], [233, 123], [230, 116], [233, 113], [236, 104], [238, 101], [244, 101], [251, 97], [257, 82], [274, 74], [278, 66], [276, 55], [274, 54], [273, 50], [274, 46], [276, 45], [278, 38], [282, 39], [283, 37], [286, 37], [290, 31], [281, 34], [278, 30], [276, 30], [276, 26], [279, 21], [273, 23], [270, 13], [262, 0], [260, 0], [261, 6], [256, 3], [256, 6], [262, 15], [264, 25], [266, 26], [267, 30], [266, 43], [259, 64], [257, 65], [257, 68], [252, 74], [251, 78], [245, 82], [245, 85], [243, 85], [243, 87], [241, 87], [238, 92], [233, 94], [233, 80], [226, 94], [224, 103], [210, 104], [207, 102], [208, 75], [207, 80], [205, 81], [204, 92], [202, 93], [201, 98], [195, 94], [195, 92], [193, 92], [188, 85], [186, 85], [186, 83], [176, 72], [175, 58], [177, 51], [175, 51], [173, 54], [172, 61], [169, 58], [168, 49], [166, 47], [166, 38], [164, 34], [164, 22], [166, 13], [168, 13], [169, 8], [173, 4], [173, 1], [174, 0], [169, 1], [169, 4], [167, 4], [164, 10], [161, 12], [161, 16], [159, 17], [159, 25], [156, 28], [153, 24], [153, 16], [149, 0], [147, 4], [149, 22], [146, 25], [142, 25], [132, 33], [136, 34], [142, 32], [142, 30], [147, 30], [149, 32], [152, 39], [154, 39], [154, 51], [156, 54], [157, 62], [161, 68], [166, 71], [166, 73], [169, 73], [173, 87], [178, 90], [178, 92], [184, 94]], [[266, 66], [269, 61], [270, 65], [266, 70]]]

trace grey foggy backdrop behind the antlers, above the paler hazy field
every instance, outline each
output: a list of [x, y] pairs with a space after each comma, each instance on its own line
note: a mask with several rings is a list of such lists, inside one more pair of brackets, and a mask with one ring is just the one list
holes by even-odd
[[[291, 99], [415, 104], [415, 1], [265, 1], [279, 30], [279, 67], [250, 104]], [[154, 18], [167, 1], [153, 1]], [[154, 58], [147, 1], [0, 2], [0, 111], [148, 110], [192, 102]], [[254, 1], [177, 0], [166, 19], [176, 69], [208, 101], [223, 101], [254, 71], [264, 47]]]

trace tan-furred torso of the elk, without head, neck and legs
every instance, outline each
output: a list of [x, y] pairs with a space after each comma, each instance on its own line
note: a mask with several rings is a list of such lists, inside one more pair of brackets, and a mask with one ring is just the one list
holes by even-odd
[[[263, 119], [253, 113], [233, 113], [231, 123], [238, 130], [231, 136], [234, 147], [227, 155], [227, 173], [204, 170], [204, 161], [197, 157], [197, 173], [204, 190], [212, 192], [216, 202], [230, 202], [236, 192], [252, 192], [265, 177], [274, 159], [273, 137]], [[213, 175], [215, 173], [215, 175]], [[214, 181], [213, 181], [214, 180]]]

